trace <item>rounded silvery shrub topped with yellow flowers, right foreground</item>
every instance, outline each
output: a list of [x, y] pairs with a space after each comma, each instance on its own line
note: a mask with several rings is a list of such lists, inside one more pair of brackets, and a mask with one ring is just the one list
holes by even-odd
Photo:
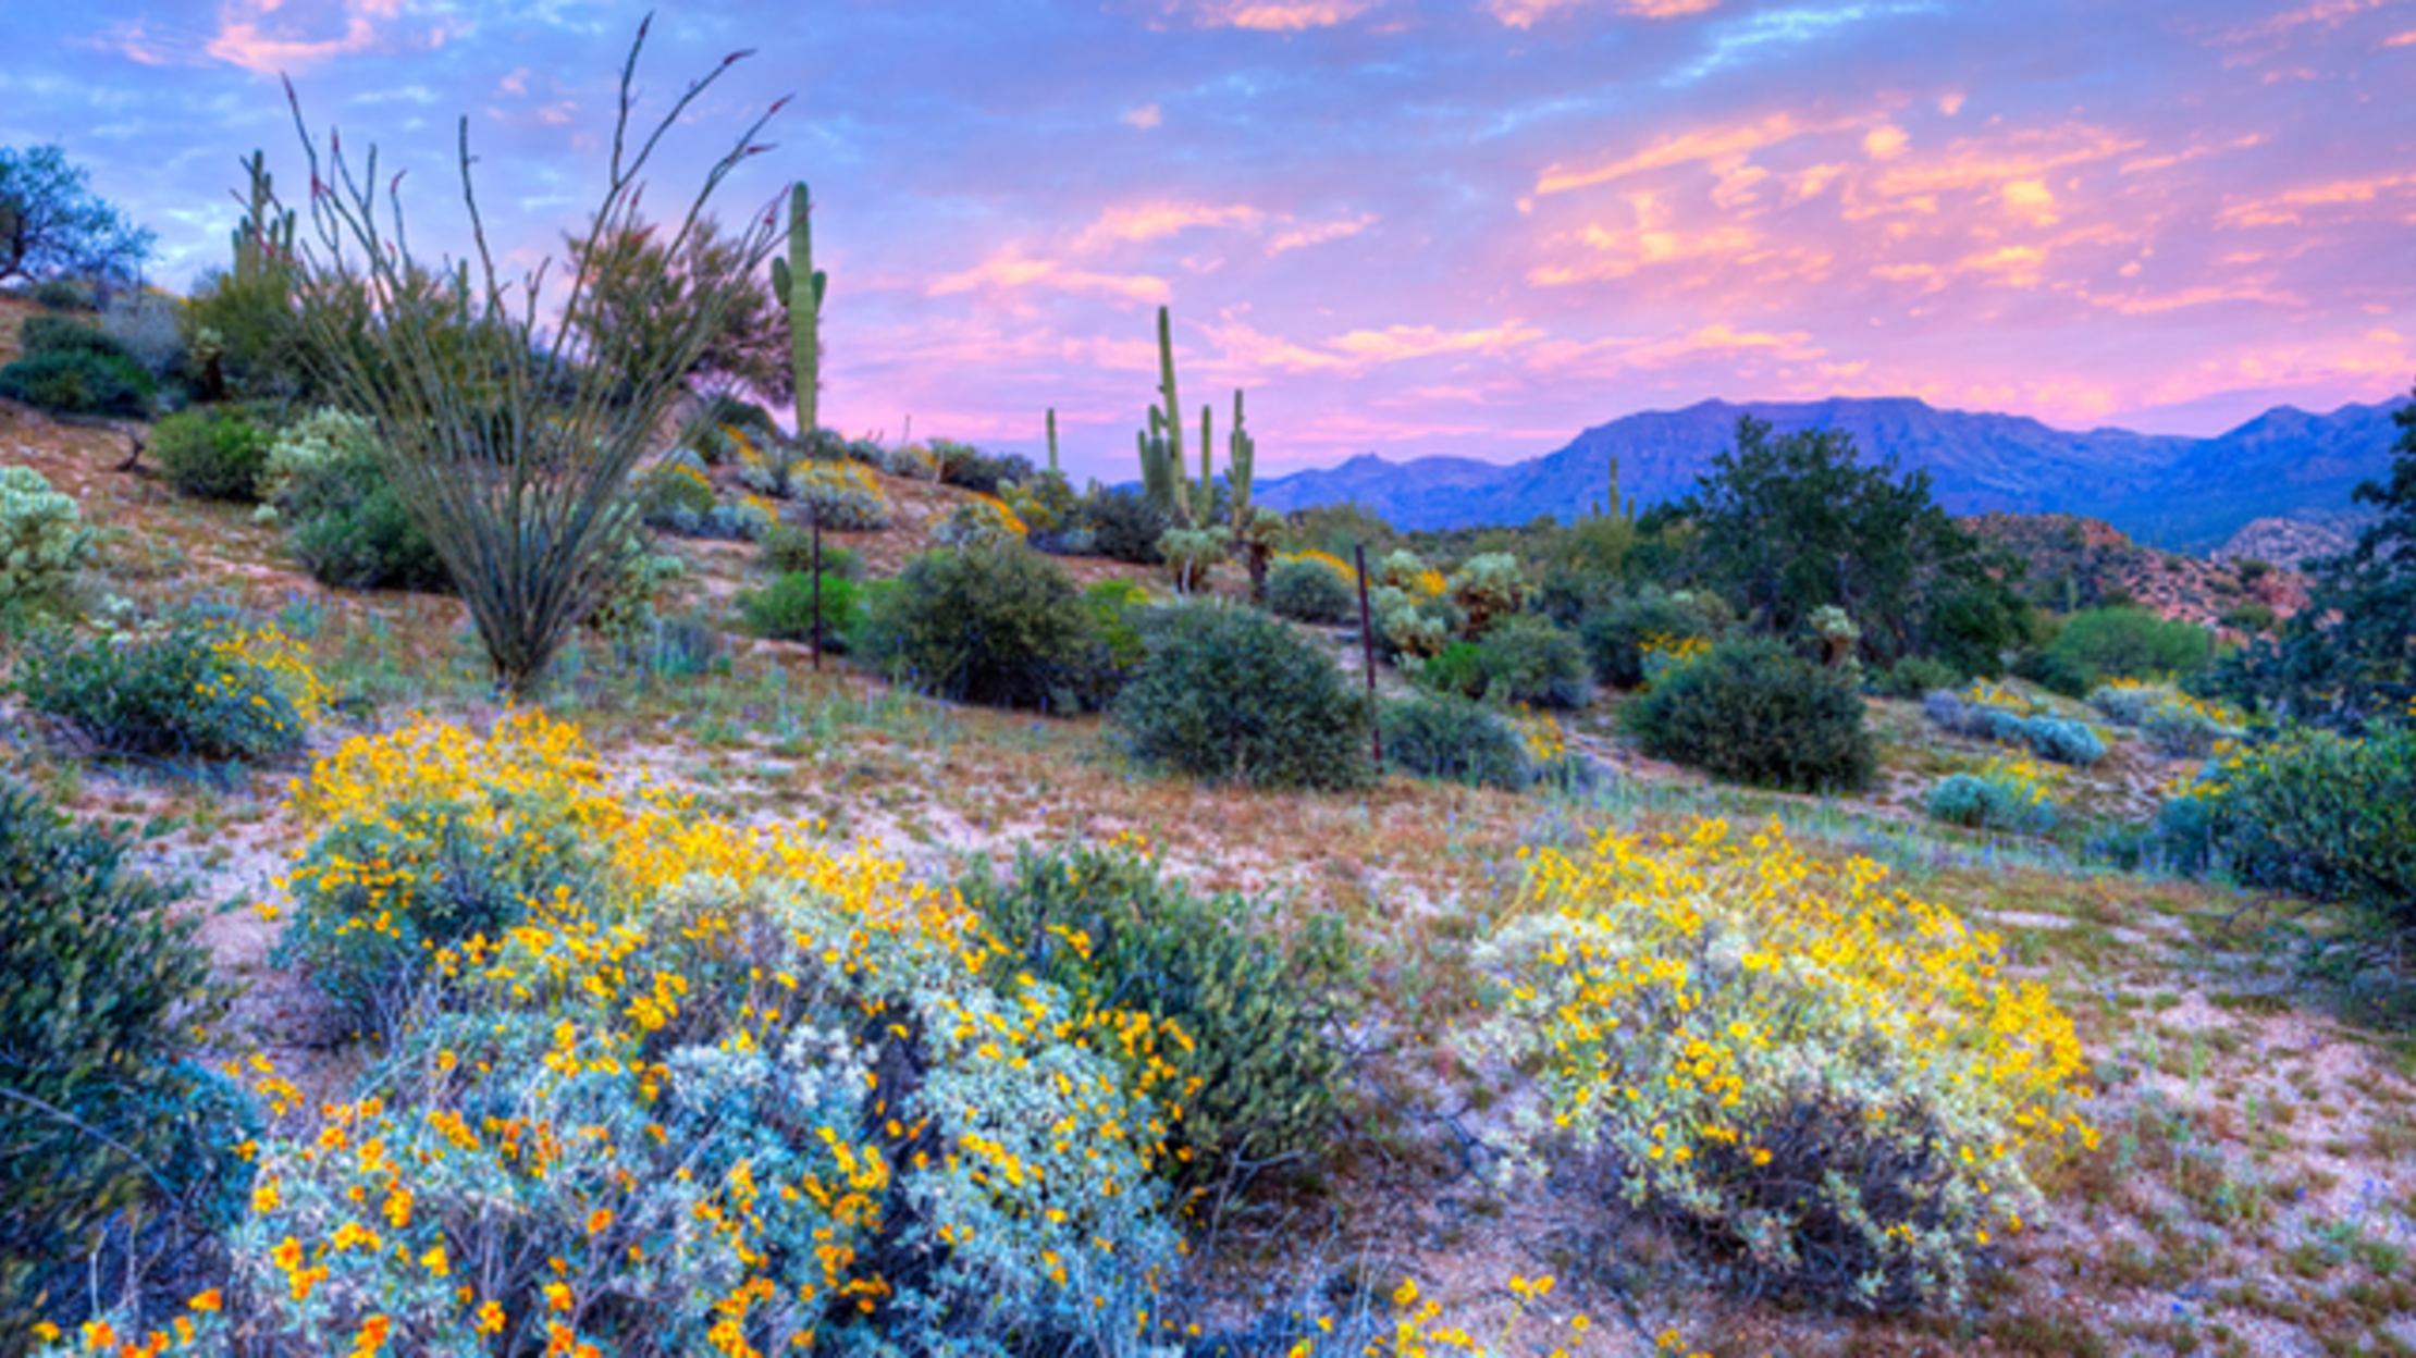
[[1481, 947], [1479, 1051], [1537, 1078], [1522, 1160], [1599, 1153], [1747, 1276], [1855, 1307], [1959, 1305], [2029, 1167], [2095, 1133], [2073, 1022], [1998, 940], [1805, 858], [1773, 824], [1604, 831], [1529, 860]]

